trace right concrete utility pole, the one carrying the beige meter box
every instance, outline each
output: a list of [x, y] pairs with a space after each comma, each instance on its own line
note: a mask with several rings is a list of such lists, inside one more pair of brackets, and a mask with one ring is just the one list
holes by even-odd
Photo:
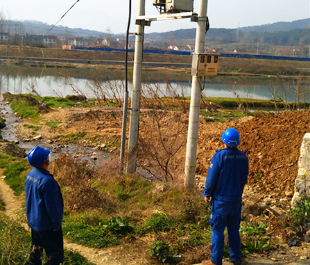
[[[205, 31], [207, 24], [207, 0], [200, 0], [198, 6], [198, 22], [196, 29], [195, 52], [205, 49]], [[185, 158], [184, 186], [193, 190], [195, 186], [198, 125], [200, 113], [200, 95], [203, 77], [193, 75], [191, 84], [191, 106], [189, 109], [189, 129], [187, 133], [187, 153]]]

